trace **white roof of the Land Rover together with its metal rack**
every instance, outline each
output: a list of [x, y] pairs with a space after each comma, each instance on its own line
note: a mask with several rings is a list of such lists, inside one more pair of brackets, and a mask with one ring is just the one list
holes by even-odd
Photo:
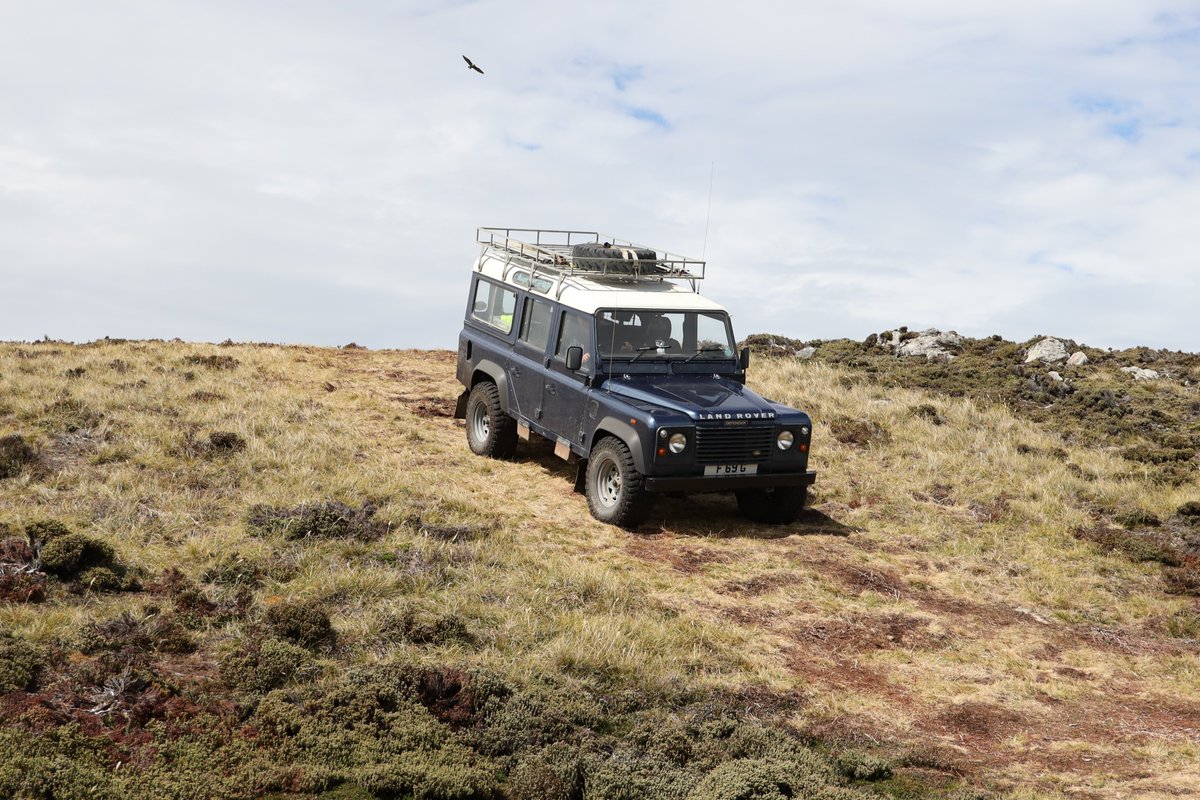
[[[520, 241], [512, 237], [514, 233], [533, 239], [535, 243]], [[547, 239], [554, 236], [559, 240], [565, 237], [568, 243], [547, 243]], [[542, 294], [587, 314], [601, 308], [725, 312], [720, 303], [698, 294], [696, 282], [704, 277], [704, 263], [701, 260], [664, 252], [655, 265], [666, 273], [648, 270], [647, 275], [636, 276], [601, 275], [572, 267], [570, 242], [572, 237], [578, 242], [612, 240], [611, 236], [480, 228], [476, 237], [484, 245], [475, 260], [476, 272], [518, 289], [528, 289], [534, 296]]]

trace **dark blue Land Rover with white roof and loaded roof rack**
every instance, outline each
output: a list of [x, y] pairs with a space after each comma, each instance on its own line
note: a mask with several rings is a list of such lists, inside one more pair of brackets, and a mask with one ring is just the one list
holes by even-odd
[[473, 452], [545, 437], [592, 515], [625, 528], [660, 492], [732, 491], [751, 521], [797, 518], [812, 422], [745, 387], [750, 353], [698, 294], [703, 261], [576, 230], [476, 240], [455, 410]]

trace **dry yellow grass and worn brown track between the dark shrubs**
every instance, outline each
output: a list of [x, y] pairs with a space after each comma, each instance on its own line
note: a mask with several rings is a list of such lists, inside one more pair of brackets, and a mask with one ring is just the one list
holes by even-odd
[[[820, 513], [776, 529], [728, 495], [664, 499], [631, 535], [588, 516], [548, 450], [469, 453], [450, 353], [0, 344], [0, 435], [48, 465], [0, 481], [0, 522], [61, 519], [151, 575], [288, 559], [295, 577], [259, 600], [325, 601], [356, 660], [754, 690], [790, 698], [815, 736], [910, 746], [1014, 798], [1200, 794], [1198, 643], [1164, 627], [1200, 612], [1164, 593], [1159, 565], [1074, 535], [1096, 506], [1166, 517], [1200, 487], [1150, 486], [1006, 409], [816, 362], [758, 361], [751, 383], [816, 420]], [[836, 417], [889, 438], [840, 444]], [[220, 431], [245, 450], [206, 450]], [[391, 533], [290, 549], [248, 533], [251, 506], [319, 500], [370, 500]], [[473, 535], [430, 535], [454, 525]], [[382, 638], [413, 602], [468, 620], [478, 646]], [[4, 603], [0, 626], [48, 639], [122, 603]]]

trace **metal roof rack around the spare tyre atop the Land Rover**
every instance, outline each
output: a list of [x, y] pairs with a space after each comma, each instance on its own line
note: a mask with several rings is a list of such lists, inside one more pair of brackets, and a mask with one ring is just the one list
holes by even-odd
[[[544, 273], [566, 283], [568, 278], [584, 277], [589, 279], [638, 283], [644, 281], [686, 281], [692, 291], [700, 291], [697, 281], [704, 278], [704, 261], [695, 258], [670, 253], [660, 247], [637, 245], [616, 236], [601, 235], [594, 230], [550, 230], [542, 228], [478, 228], [475, 241], [497, 255], [503, 255], [506, 265], [521, 265], [533, 275]], [[605, 242], [617, 248], [652, 249], [655, 259], [623, 260], [611, 259], [613, 269], [584, 269], [575, 264], [572, 248], [576, 245]], [[589, 259], [596, 260], [608, 259]], [[505, 275], [508, 266], [505, 266]], [[574, 281], [571, 283], [575, 283]]]

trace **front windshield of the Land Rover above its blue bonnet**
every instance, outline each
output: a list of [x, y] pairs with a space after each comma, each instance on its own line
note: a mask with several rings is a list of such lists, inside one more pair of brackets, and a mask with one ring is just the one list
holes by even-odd
[[730, 318], [713, 311], [606, 309], [596, 312], [604, 359], [732, 359]]

